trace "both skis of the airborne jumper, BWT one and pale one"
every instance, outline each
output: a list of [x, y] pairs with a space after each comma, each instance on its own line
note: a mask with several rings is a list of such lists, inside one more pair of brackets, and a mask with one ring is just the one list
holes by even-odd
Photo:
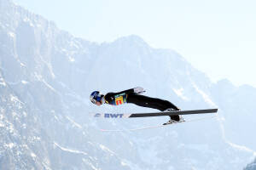
[[[207, 109], [207, 110], [191, 110], [191, 111], [164, 111], [164, 112], [153, 112], [153, 113], [132, 113], [132, 114], [123, 114], [123, 113], [95, 113], [95, 117], [102, 117], [102, 118], [135, 118], [135, 117], [151, 117], [151, 116], [177, 116], [177, 115], [192, 115], [192, 114], [206, 114], [206, 113], [217, 113], [218, 109]], [[212, 118], [214, 116], [207, 116], [203, 118], [191, 119], [185, 122], [195, 122], [200, 121], [202, 119]], [[167, 125], [172, 125], [181, 122], [174, 122]], [[136, 130], [143, 130], [148, 128], [156, 128], [156, 127], [164, 127], [166, 125], [158, 125], [158, 126], [151, 126], [151, 127], [141, 127], [141, 128], [134, 128], [134, 129], [126, 129], [126, 130], [104, 130], [101, 129], [103, 132], [122, 132], [122, 131], [136, 131]]]

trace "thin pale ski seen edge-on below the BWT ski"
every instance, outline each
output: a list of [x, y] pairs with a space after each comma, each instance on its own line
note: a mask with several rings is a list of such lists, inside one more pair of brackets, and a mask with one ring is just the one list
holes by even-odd
[[204, 119], [210, 119], [216, 117], [215, 116], [205, 116], [205, 117], [201, 117], [201, 118], [195, 118], [195, 119], [190, 119], [190, 120], [186, 120], [183, 122], [174, 122], [171, 124], [167, 124], [167, 125], [156, 125], [156, 126], [148, 126], [148, 127], [138, 127], [138, 128], [131, 128], [131, 129], [100, 129], [100, 131], [102, 132], [108, 132], [108, 133], [119, 133], [119, 132], [130, 132], [130, 131], [139, 131], [139, 130], [146, 130], [146, 129], [152, 129], [152, 128], [159, 128], [159, 127], [167, 127], [167, 126], [171, 126], [171, 125], [175, 125], [175, 124], [179, 124], [179, 123], [184, 123], [184, 122], [196, 122], [196, 121], [201, 121]]

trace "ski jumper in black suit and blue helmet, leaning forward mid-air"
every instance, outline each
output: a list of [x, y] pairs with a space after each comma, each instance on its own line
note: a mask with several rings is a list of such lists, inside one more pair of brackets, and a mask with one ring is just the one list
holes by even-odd
[[[105, 95], [99, 91], [94, 91], [90, 94], [90, 101], [95, 105], [122, 105], [128, 103], [157, 109], [159, 111], [180, 111], [180, 109], [170, 101], [141, 95], [143, 92], [145, 91], [141, 87], [131, 88], [119, 93], [108, 93]], [[173, 122], [183, 122], [183, 117], [179, 115], [170, 116], [170, 118], [171, 119], [163, 125], [171, 124]]]

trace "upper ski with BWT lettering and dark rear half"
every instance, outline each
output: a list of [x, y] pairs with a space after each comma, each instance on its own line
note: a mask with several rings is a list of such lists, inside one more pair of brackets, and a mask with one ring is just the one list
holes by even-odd
[[191, 114], [206, 114], [217, 113], [218, 109], [206, 109], [206, 110], [191, 110], [191, 111], [163, 111], [152, 113], [94, 113], [94, 117], [102, 118], [134, 118], [134, 117], [150, 117], [150, 116], [177, 116], [177, 115], [191, 115]]

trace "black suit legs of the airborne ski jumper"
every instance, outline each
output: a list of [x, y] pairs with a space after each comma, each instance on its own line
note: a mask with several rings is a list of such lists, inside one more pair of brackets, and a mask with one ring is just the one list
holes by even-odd
[[[127, 103], [139, 105], [142, 107], [149, 107], [157, 109], [159, 111], [166, 111], [166, 109], [172, 108], [177, 110], [177, 106], [173, 105], [170, 101], [165, 99], [150, 98], [148, 96], [139, 94], [128, 94]], [[172, 120], [179, 120], [179, 116], [170, 116]]]

